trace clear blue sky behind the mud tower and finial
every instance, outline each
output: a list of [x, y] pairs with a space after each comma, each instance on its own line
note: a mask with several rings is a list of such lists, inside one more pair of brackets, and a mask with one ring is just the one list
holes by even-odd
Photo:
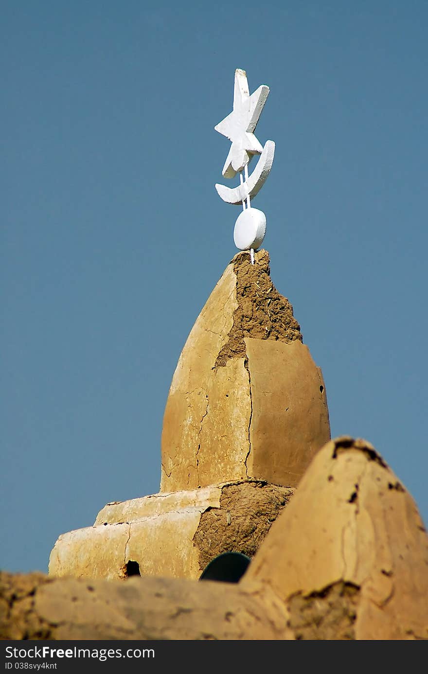
[[428, 522], [427, 20], [422, 0], [3, 2], [0, 568], [46, 571], [61, 532], [158, 491], [173, 371], [236, 252], [214, 125], [237, 67], [270, 86], [253, 205], [332, 435], [371, 441]]

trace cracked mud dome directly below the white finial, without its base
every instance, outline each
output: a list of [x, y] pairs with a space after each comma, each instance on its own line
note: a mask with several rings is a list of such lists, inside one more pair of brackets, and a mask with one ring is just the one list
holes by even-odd
[[269, 255], [238, 253], [200, 313], [166, 402], [161, 491], [257, 479], [295, 487], [330, 439], [321, 370]]

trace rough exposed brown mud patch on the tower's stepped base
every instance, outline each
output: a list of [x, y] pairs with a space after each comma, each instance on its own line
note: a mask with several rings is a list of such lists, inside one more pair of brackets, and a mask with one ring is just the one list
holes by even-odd
[[193, 537], [200, 571], [220, 553], [241, 552], [252, 558], [292, 494], [293, 489], [266, 482], [224, 486], [220, 508], [202, 514]]

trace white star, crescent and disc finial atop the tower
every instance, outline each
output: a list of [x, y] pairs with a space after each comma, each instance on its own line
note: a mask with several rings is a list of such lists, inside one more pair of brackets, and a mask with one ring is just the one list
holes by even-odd
[[[232, 142], [222, 174], [225, 178], [233, 178], [239, 173], [240, 179], [238, 187], [231, 189], [225, 185], [216, 185], [216, 190], [224, 202], [242, 204], [243, 212], [235, 222], [233, 239], [237, 248], [251, 251], [251, 264], [254, 264], [254, 251], [262, 245], [266, 233], [266, 216], [257, 208], [251, 208], [250, 198], [255, 197], [266, 181], [275, 152], [272, 140], [268, 140], [262, 148], [253, 133], [268, 93], [269, 87], [262, 85], [250, 96], [247, 74], [238, 68], [235, 71], [233, 111], [214, 127]], [[248, 164], [254, 154], [261, 156], [249, 176]]]

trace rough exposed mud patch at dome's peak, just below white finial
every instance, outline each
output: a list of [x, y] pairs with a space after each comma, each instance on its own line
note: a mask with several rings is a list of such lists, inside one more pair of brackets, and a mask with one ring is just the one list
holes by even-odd
[[251, 264], [248, 251], [242, 251], [232, 264], [237, 277], [238, 307], [214, 367], [223, 367], [231, 358], [245, 358], [245, 337], [280, 342], [303, 340], [291, 303], [278, 293], [270, 278], [268, 251], [257, 251], [255, 264]]

